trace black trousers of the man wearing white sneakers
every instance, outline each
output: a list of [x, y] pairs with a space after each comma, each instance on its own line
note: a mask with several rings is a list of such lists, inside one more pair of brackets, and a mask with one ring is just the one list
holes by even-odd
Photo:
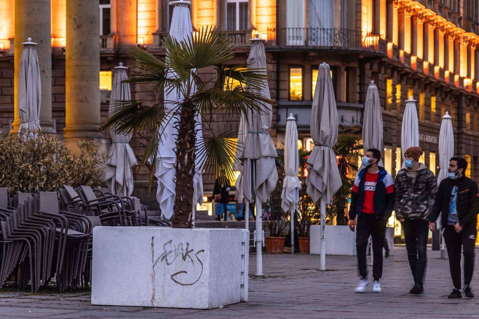
[[383, 275], [383, 247], [386, 219], [373, 214], [361, 214], [356, 225], [356, 251], [359, 274], [367, 276], [366, 248], [369, 236], [373, 238], [373, 278], [379, 280]]

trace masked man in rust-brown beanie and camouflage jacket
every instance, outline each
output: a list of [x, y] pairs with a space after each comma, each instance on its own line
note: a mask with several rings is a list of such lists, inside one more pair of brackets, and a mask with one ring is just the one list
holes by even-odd
[[409, 265], [414, 286], [411, 294], [424, 292], [422, 281], [427, 263], [427, 238], [429, 235], [429, 211], [437, 193], [433, 172], [419, 163], [422, 149], [413, 146], [404, 152], [406, 168], [401, 169], [394, 181], [396, 219], [404, 230]]

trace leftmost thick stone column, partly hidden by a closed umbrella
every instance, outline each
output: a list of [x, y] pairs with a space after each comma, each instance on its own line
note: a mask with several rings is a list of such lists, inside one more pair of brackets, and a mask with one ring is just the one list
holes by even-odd
[[23, 42], [27, 38], [37, 43], [38, 64], [40, 66], [40, 127], [49, 133], [56, 133], [52, 121], [52, 44], [50, 0], [15, 0], [15, 120], [12, 132], [18, 132], [18, 71], [22, 57]]

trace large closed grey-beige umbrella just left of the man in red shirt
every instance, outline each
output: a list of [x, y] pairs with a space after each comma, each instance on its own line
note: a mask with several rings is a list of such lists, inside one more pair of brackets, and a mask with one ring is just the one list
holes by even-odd
[[314, 91], [310, 120], [314, 148], [307, 161], [307, 193], [314, 203], [320, 200], [321, 214], [321, 264], [326, 269], [324, 227], [326, 204], [332, 202], [342, 181], [332, 147], [338, 139], [338, 111], [332, 86], [330, 67], [326, 62], [319, 65], [318, 80]]

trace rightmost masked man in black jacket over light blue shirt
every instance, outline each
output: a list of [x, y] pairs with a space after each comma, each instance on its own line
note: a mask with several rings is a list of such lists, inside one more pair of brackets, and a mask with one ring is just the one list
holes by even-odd
[[[436, 230], [435, 220], [442, 212], [441, 227], [449, 256], [454, 290], [449, 298], [474, 297], [470, 284], [474, 274], [474, 246], [477, 235], [479, 189], [472, 179], [464, 175], [468, 162], [462, 157], [452, 157], [448, 178], [441, 181], [433, 211], [429, 216], [429, 228]], [[461, 289], [461, 248], [464, 254], [464, 288]]]

